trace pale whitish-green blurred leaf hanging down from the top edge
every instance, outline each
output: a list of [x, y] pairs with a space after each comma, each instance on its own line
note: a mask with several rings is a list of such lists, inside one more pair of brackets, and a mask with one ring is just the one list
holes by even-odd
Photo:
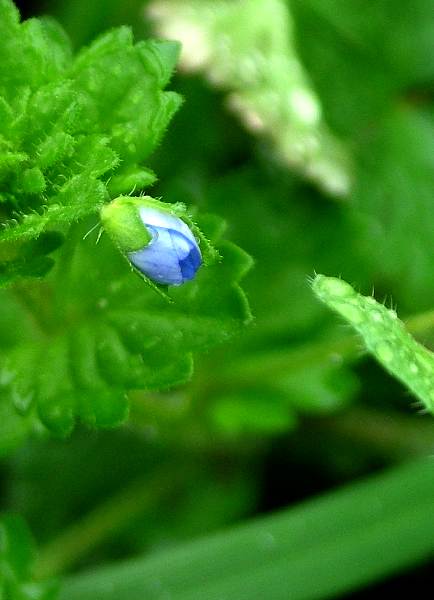
[[332, 196], [349, 193], [348, 152], [322, 119], [283, 0], [156, 0], [149, 14], [163, 38], [182, 41], [181, 66], [227, 90], [229, 106], [271, 140], [280, 161]]

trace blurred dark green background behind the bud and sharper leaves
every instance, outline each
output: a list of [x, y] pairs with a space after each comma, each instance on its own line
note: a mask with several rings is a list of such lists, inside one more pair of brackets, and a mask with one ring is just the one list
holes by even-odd
[[[156, 35], [138, 0], [18, 5], [55, 16], [76, 48], [120, 24]], [[321, 135], [346, 156], [348, 190], [336, 197], [279, 159], [279, 120], [274, 137], [249, 132], [228, 108], [229, 79], [179, 70], [171, 89], [185, 102], [152, 157], [152, 194], [227, 221], [255, 261], [243, 283], [255, 320], [198, 358], [189, 385], [132, 394], [128, 425], [34, 440], [2, 460], [1, 506], [27, 519], [41, 572], [171, 548], [433, 452], [431, 418], [361, 349], [347, 352], [350, 332], [308, 285], [314, 272], [341, 275], [402, 318], [434, 307], [433, 4], [287, 6], [291, 56], [321, 103]], [[432, 348], [434, 331], [419, 339]], [[430, 584], [425, 561], [351, 597]]]

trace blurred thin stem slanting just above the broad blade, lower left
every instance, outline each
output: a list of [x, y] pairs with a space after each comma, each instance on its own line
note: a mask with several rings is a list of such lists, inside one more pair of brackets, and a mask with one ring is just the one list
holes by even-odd
[[68, 570], [135, 517], [154, 507], [166, 494], [172, 493], [182, 478], [182, 469], [163, 469], [128, 485], [42, 547], [35, 577], [45, 579]]

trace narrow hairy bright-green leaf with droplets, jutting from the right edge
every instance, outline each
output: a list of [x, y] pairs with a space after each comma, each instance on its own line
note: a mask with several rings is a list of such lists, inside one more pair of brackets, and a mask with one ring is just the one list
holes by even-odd
[[396, 312], [334, 277], [317, 275], [312, 289], [360, 333], [368, 352], [434, 412], [434, 354], [416, 342]]

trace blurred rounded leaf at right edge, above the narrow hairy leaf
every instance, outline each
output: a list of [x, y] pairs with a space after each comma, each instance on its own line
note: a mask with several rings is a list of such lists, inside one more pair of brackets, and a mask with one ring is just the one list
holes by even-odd
[[[390, 110], [360, 148], [354, 201], [369, 229], [365, 258], [402, 310], [428, 310], [434, 284], [431, 210], [434, 119], [428, 111]], [[378, 287], [377, 281], [375, 286]]]

